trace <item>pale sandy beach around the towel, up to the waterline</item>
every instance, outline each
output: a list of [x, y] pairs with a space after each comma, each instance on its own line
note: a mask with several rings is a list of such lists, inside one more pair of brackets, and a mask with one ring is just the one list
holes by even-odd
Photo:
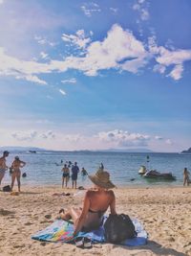
[[[62, 192], [71, 196], [53, 196]], [[94, 244], [92, 249], [80, 249], [32, 240], [56, 219], [60, 208], [81, 205], [83, 193], [78, 192], [57, 186], [22, 187], [19, 196], [1, 191], [0, 255], [191, 255], [191, 187], [115, 190], [117, 212], [143, 223], [149, 235], [146, 245]]]

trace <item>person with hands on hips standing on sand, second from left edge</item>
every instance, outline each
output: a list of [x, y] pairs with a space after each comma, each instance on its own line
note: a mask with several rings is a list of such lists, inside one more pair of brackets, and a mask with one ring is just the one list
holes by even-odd
[[12, 168], [12, 174], [11, 174], [11, 190], [14, 186], [14, 180], [15, 178], [17, 179], [17, 184], [18, 184], [18, 192], [21, 192], [21, 182], [20, 182], [20, 177], [21, 177], [21, 171], [20, 168], [23, 168], [26, 165], [26, 162], [21, 161], [18, 156], [15, 156], [14, 161], [11, 164]]

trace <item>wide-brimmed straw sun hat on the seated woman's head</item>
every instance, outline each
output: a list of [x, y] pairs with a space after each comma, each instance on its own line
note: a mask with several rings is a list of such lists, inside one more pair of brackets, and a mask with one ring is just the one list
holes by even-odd
[[110, 174], [103, 170], [99, 169], [98, 171], [96, 171], [96, 175], [89, 175], [89, 178], [93, 183], [96, 184], [96, 186], [99, 186], [101, 188], [112, 189], [116, 187], [110, 180]]

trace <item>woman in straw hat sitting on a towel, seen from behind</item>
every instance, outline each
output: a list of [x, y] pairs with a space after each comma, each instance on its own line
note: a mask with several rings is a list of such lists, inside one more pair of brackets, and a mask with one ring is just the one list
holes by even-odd
[[103, 215], [110, 207], [112, 215], [116, 215], [116, 197], [112, 188], [115, 185], [110, 180], [108, 172], [99, 169], [96, 175], [89, 175], [91, 181], [95, 184], [94, 189], [86, 192], [83, 208], [71, 207], [66, 213], [60, 210], [62, 220], [74, 221], [74, 236], [79, 231], [91, 231], [98, 228], [102, 221]]

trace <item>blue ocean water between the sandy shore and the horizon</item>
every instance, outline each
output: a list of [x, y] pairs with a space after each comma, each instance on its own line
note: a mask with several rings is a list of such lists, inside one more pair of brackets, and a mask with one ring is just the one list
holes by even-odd
[[[191, 155], [179, 153], [138, 153], [138, 152], [93, 152], [93, 151], [37, 151], [36, 153], [11, 153], [7, 158], [7, 165], [15, 155], [25, 161], [27, 165], [22, 173], [21, 184], [26, 185], [61, 185], [61, 160], [77, 162], [79, 169], [84, 167], [92, 175], [102, 162], [105, 170], [109, 171], [112, 181], [117, 187], [123, 186], [180, 186], [182, 185], [183, 168], [191, 171]], [[147, 163], [149, 155], [149, 163]], [[171, 172], [177, 177], [176, 181], [151, 181], [138, 175], [140, 165], [148, 166], [159, 172]], [[134, 179], [134, 180], [132, 180]], [[11, 175], [7, 171], [2, 185], [11, 183]], [[82, 179], [78, 175], [78, 186], [91, 186], [89, 178]], [[71, 180], [69, 182], [71, 185]]]

